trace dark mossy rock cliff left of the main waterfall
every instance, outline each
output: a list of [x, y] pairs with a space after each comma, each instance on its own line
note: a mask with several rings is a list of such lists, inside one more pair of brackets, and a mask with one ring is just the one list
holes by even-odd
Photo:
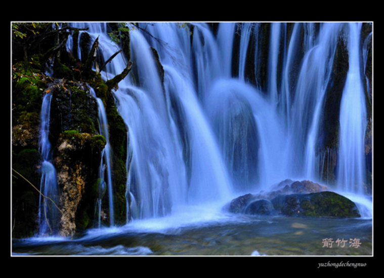
[[[20, 44], [39, 42], [37, 36], [33, 39], [33, 34], [28, 35], [25, 41], [21, 39], [15, 41]], [[57, 35], [63, 36], [62, 33]], [[63, 42], [65, 39], [64, 37]], [[46, 38], [45, 43], [54, 47], [54, 40]], [[48, 48], [45, 46], [40, 50], [46, 51]], [[17, 50], [20, 49], [22, 48]], [[49, 140], [52, 144], [50, 162], [57, 171], [60, 235], [73, 235], [78, 230], [92, 227], [94, 223], [95, 199], [98, 194], [95, 192], [95, 184], [98, 182], [101, 153], [106, 140], [99, 134], [98, 104], [90, 93], [90, 86], [97, 87], [96, 93], [106, 106], [109, 129], [116, 134], [111, 142], [112, 151], [116, 154], [113, 167], [125, 169], [127, 129], [121, 124], [123, 122], [114, 106], [111, 89], [101, 80], [100, 74], [94, 71], [85, 74], [83, 72], [85, 62], [76, 61], [66, 48], [62, 48], [59, 53], [60, 56], [57, 56], [57, 52], [47, 56], [35, 50], [33, 53], [25, 52], [24, 57], [14, 53], [12, 78], [14, 237], [32, 236], [38, 228], [36, 223], [40, 196], [38, 189], [43, 161], [39, 150], [40, 110], [42, 98], [46, 94], [52, 94], [49, 129]], [[84, 76], [88, 78], [83, 80]], [[125, 175], [119, 174], [120, 172], [117, 171], [112, 179], [113, 186], [119, 189], [115, 191], [119, 194], [125, 192], [126, 182]], [[120, 201], [115, 201], [116, 207], [122, 210], [118, 211], [120, 216], [118, 223], [125, 221], [125, 200], [123, 205], [120, 205]], [[108, 206], [105, 204], [102, 206], [103, 212], [107, 215]]]

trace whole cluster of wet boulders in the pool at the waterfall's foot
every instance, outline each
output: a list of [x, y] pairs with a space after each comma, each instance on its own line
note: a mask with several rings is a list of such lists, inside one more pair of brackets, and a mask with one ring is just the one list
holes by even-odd
[[255, 215], [360, 217], [356, 204], [349, 198], [328, 191], [327, 186], [318, 183], [287, 179], [272, 189], [234, 198], [227, 210]]

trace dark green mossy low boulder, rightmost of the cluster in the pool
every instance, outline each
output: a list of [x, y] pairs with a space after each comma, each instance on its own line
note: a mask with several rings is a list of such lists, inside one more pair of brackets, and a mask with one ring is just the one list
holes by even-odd
[[355, 203], [331, 191], [279, 195], [271, 202], [276, 211], [285, 216], [360, 217]]

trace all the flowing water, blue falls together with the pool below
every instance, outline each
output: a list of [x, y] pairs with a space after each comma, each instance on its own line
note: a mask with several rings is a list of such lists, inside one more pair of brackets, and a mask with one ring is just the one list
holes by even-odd
[[[117, 25], [73, 26], [89, 27], [91, 43], [99, 37], [98, 62], [119, 50], [107, 34]], [[372, 195], [363, 189], [371, 172], [371, 164], [365, 165], [370, 153], [364, 153], [364, 147], [371, 148], [367, 140], [372, 134], [372, 127], [366, 127], [367, 118], [372, 121], [368, 116], [372, 26], [277, 22], [127, 26], [133, 27], [133, 67], [112, 91], [127, 129], [127, 223], [101, 228], [103, 192], [121, 189], [109, 179], [115, 169], [108, 165], [115, 160], [108, 162], [108, 157], [115, 157], [108, 153], [107, 143], [99, 169], [101, 194], [95, 197], [94, 226], [99, 228], [70, 240], [13, 240], [14, 254], [372, 255]], [[87, 51], [79, 50], [78, 57]], [[122, 72], [127, 62], [120, 52], [100, 72], [103, 80]], [[113, 142], [104, 105], [90, 91], [99, 104], [99, 133]], [[40, 138], [41, 190], [47, 195], [56, 187], [48, 140], [50, 98], [46, 94], [41, 107]], [[91, 171], [94, 179], [96, 169]], [[249, 196], [246, 193], [275, 194], [281, 181], [292, 185], [293, 180], [304, 179], [350, 198], [361, 217], [259, 217], [226, 210], [236, 203], [231, 203], [233, 198], [242, 196], [237, 199], [242, 202]], [[93, 188], [84, 181], [88, 193]], [[93, 192], [81, 200], [86, 206], [79, 206], [80, 217], [87, 215]], [[334, 195], [319, 195], [323, 193]], [[121, 194], [117, 196], [121, 201]], [[108, 200], [110, 205], [113, 201]], [[120, 206], [109, 210], [111, 225], [117, 224]], [[40, 234], [50, 227], [54, 231], [59, 222], [49, 212], [40, 199]], [[330, 237], [361, 245], [325, 248], [324, 239]]]

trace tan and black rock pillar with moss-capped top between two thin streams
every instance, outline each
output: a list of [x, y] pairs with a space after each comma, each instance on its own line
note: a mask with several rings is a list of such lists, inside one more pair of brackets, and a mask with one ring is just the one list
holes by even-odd
[[[96, 137], [96, 139], [95, 139]], [[98, 142], [98, 143], [95, 143]], [[92, 222], [93, 186], [98, 178], [101, 151], [105, 139], [101, 135], [68, 130], [60, 134], [54, 151], [57, 181], [61, 188], [60, 234], [73, 235]]]

